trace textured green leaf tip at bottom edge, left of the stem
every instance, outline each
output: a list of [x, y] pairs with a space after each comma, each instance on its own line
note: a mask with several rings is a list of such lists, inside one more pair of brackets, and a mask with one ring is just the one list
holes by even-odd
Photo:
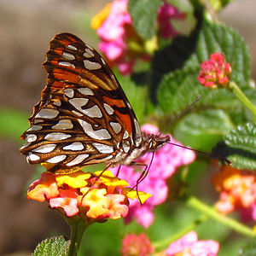
[[64, 236], [55, 236], [41, 241], [32, 256], [66, 256], [68, 254], [70, 241]]

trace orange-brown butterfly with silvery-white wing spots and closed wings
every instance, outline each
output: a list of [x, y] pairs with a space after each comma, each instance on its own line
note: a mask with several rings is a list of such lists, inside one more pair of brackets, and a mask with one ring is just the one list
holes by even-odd
[[171, 138], [143, 133], [131, 104], [102, 56], [70, 33], [55, 35], [43, 63], [48, 78], [28, 119], [20, 153], [50, 172], [105, 163], [133, 165]]

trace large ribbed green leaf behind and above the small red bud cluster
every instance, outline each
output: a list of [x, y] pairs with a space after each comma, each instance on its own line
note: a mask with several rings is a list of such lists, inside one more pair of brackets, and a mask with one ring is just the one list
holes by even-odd
[[194, 67], [196, 64], [199, 67], [202, 61], [208, 60], [215, 52], [224, 54], [226, 60], [230, 62], [232, 67], [230, 79], [241, 86], [249, 83], [250, 55], [241, 35], [230, 26], [205, 20], [196, 44], [196, 61], [192, 56], [186, 65], [192, 64]]

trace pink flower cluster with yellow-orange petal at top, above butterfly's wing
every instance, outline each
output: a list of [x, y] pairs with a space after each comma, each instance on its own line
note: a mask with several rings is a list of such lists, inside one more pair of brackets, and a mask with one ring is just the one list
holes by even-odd
[[127, 3], [127, 0], [115, 0], [108, 9], [105, 8], [104, 18], [101, 12], [92, 20], [92, 26], [101, 38], [99, 49], [107, 57], [108, 64], [116, 65], [124, 75], [131, 73], [135, 63], [127, 44], [130, 40], [137, 41], [137, 33], [131, 26], [131, 16], [127, 12]]

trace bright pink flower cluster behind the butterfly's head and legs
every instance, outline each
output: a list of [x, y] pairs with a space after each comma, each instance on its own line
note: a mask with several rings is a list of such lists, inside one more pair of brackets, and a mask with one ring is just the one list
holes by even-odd
[[[142, 131], [148, 134], [159, 134], [159, 130], [154, 125], [143, 125]], [[172, 139], [172, 143], [177, 143]], [[177, 143], [181, 145], [181, 143]], [[149, 165], [152, 160], [152, 154], [144, 154], [137, 162]], [[154, 152], [154, 159], [148, 166], [148, 175], [143, 182], [138, 184], [138, 188], [152, 195], [148, 200], [140, 205], [138, 201], [130, 201], [130, 210], [125, 217], [125, 222], [129, 223], [136, 219], [138, 224], [148, 228], [154, 221], [154, 207], [166, 201], [168, 195], [167, 179], [172, 176], [177, 167], [188, 165], [195, 160], [195, 153], [186, 148], [180, 148], [175, 145], [166, 144]], [[121, 166], [119, 177], [125, 179], [131, 186], [137, 184], [141, 172], [137, 172], [133, 166]], [[114, 175], [118, 172], [118, 167], [110, 168]]]

